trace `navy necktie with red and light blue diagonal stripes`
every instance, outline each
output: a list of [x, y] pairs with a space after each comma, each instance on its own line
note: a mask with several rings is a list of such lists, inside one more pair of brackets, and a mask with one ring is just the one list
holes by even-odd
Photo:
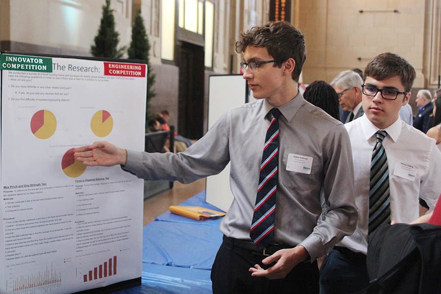
[[270, 113], [271, 123], [265, 137], [256, 205], [249, 233], [251, 240], [259, 248], [269, 245], [274, 238], [280, 111], [277, 108], [272, 108]]

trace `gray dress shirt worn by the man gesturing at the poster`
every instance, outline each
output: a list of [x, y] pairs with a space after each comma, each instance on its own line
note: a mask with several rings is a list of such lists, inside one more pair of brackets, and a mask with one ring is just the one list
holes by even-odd
[[[144, 179], [189, 183], [217, 174], [231, 162], [234, 200], [221, 222], [221, 231], [228, 237], [250, 241], [262, 151], [270, 124], [265, 117], [271, 108], [265, 99], [260, 99], [230, 109], [182, 153], [127, 150], [124, 170]], [[301, 94], [279, 110], [283, 116], [279, 119], [274, 239], [304, 246], [314, 260], [352, 234], [356, 226], [349, 137], [343, 123], [305, 101]], [[312, 159], [309, 174], [287, 170], [289, 157], [293, 164], [293, 154]], [[329, 207], [317, 224], [322, 212], [320, 196]]]

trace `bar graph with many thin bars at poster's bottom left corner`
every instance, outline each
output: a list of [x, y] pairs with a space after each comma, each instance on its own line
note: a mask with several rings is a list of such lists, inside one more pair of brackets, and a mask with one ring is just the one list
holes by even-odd
[[53, 264], [35, 274], [20, 275], [11, 281], [14, 294], [49, 293], [53, 288], [61, 287], [61, 272], [53, 268]]

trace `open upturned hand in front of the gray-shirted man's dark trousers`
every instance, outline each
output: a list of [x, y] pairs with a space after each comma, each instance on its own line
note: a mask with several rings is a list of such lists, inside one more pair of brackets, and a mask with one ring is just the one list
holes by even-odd
[[281, 249], [262, 260], [264, 265], [275, 262], [273, 266], [264, 270], [256, 264], [249, 271], [253, 277], [267, 277], [271, 280], [283, 279], [298, 263], [304, 261], [308, 256], [308, 251], [301, 245], [294, 248]]

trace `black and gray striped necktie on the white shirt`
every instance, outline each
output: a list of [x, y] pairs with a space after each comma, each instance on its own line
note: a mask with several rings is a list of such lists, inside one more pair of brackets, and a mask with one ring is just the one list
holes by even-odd
[[384, 222], [391, 222], [389, 198], [389, 169], [383, 139], [386, 131], [376, 133], [377, 142], [372, 152], [369, 185], [369, 234]]

